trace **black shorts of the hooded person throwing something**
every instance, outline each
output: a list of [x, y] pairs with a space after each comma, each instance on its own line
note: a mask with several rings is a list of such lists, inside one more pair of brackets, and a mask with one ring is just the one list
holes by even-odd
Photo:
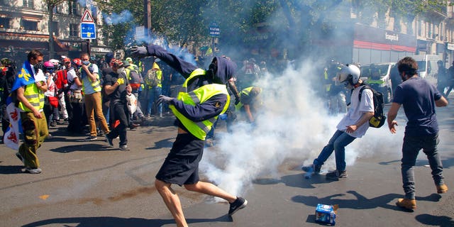
[[194, 135], [178, 134], [156, 179], [179, 186], [199, 182], [199, 162], [204, 153], [204, 145], [205, 141]]

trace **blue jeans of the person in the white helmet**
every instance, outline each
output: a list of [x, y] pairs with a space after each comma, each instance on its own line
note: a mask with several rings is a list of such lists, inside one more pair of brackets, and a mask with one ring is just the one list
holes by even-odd
[[321, 150], [319, 157], [314, 160], [314, 165], [323, 165], [334, 151], [336, 155], [336, 170], [344, 171], [346, 167], [345, 146], [352, 143], [353, 140], [355, 140], [355, 137], [348, 135], [348, 133], [339, 130], [336, 131], [328, 144]]

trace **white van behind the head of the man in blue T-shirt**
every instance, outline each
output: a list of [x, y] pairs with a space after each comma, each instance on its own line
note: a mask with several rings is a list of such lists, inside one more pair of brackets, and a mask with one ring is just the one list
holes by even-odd
[[426, 78], [432, 84], [437, 84], [436, 74], [438, 72], [437, 61], [442, 60], [441, 55], [414, 55], [412, 56], [418, 62], [418, 75]]

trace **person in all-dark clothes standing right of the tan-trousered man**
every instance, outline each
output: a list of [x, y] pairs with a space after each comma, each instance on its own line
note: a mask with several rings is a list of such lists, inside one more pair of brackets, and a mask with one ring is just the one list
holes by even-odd
[[[120, 60], [111, 61], [112, 72], [106, 74], [104, 78], [104, 92], [109, 95], [110, 99], [110, 114], [111, 122], [114, 126], [111, 127], [111, 132], [106, 134], [106, 141], [109, 145], [114, 146], [114, 138], [120, 137], [119, 149], [123, 151], [130, 150], [128, 148], [127, 127], [129, 124], [129, 110], [126, 96], [131, 94], [131, 85], [128, 83], [128, 78], [123, 67], [123, 62]], [[116, 121], [119, 121], [116, 126]]]

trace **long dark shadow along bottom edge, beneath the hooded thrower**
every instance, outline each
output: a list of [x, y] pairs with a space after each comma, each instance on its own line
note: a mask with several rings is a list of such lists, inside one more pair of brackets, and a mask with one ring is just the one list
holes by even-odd
[[[218, 218], [187, 218], [187, 223], [203, 223], [203, 222], [231, 222], [231, 217], [224, 215]], [[74, 218], [52, 218], [43, 221], [28, 223], [22, 227], [48, 226], [51, 224], [66, 224], [78, 223], [77, 227], [150, 227], [164, 226], [167, 224], [175, 224], [173, 219], [145, 219], [145, 218], [117, 218], [117, 217], [74, 217]]]

